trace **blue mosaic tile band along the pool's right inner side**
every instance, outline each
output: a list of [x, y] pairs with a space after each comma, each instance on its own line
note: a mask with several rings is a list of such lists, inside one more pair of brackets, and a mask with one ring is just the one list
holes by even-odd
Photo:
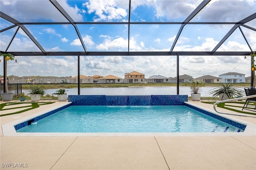
[[192, 108], [192, 109], [194, 109], [194, 110], [196, 110], [196, 111], [200, 111], [201, 113], [204, 113], [204, 114], [206, 114], [206, 115], [208, 115], [208, 116], [210, 116], [210, 117], [213, 117], [213, 118], [215, 118], [215, 119], [218, 119], [218, 120], [220, 120], [220, 121], [222, 121], [222, 122], [228, 123], [229, 125], [232, 125], [232, 126], [234, 126], [234, 127], [240, 128], [240, 129], [242, 129], [242, 130], [244, 130], [244, 129], [246, 128], [246, 125], [242, 125], [241, 123], [237, 123], [237, 122], [232, 121], [232, 120], [230, 120], [230, 119], [226, 119], [226, 118], [221, 117], [221, 116], [219, 116], [219, 115], [215, 115], [215, 114], [213, 114], [213, 113], [210, 113], [210, 112], [205, 111], [205, 110], [203, 110], [203, 109], [200, 109], [200, 108], [198, 108], [198, 107], [194, 107], [194, 106], [189, 105], [189, 104], [187, 104], [187, 103], [184, 103], [184, 105], [187, 106], [187, 107], [190, 107], [190, 108]]

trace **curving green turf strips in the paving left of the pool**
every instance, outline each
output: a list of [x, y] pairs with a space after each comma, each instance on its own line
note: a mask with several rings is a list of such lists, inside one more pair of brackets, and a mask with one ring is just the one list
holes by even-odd
[[6, 113], [6, 114], [3, 114], [3, 115], [0, 115], [0, 117], [22, 113], [22, 112], [29, 111], [29, 110], [32, 110], [32, 109], [36, 109], [36, 108], [40, 107], [40, 105], [48, 105], [48, 104], [52, 104], [54, 102], [39, 102], [39, 103], [28, 102], [28, 103], [30, 103], [31, 105], [22, 106], [22, 107], [13, 107], [13, 108], [8, 108], [8, 109], [4, 109], [4, 107], [5, 106], [10, 106], [10, 105], [19, 105], [19, 104], [24, 104], [24, 103], [2, 103], [2, 104], [0, 104], [0, 111], [11, 110], [11, 109], [20, 109], [20, 108], [26, 108], [26, 107], [29, 107], [29, 108], [21, 110], [21, 111], [13, 112], [13, 113]]

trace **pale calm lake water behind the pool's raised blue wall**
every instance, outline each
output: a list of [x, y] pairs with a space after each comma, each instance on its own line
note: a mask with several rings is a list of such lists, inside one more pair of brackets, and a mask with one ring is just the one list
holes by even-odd
[[[202, 87], [201, 97], [211, 97], [209, 91], [215, 87]], [[244, 90], [243, 87], [238, 87]], [[189, 87], [180, 87], [179, 95], [191, 96]], [[58, 89], [46, 89], [46, 94], [55, 93]], [[78, 89], [66, 89], [68, 95], [77, 95]], [[26, 91], [24, 91], [26, 93]], [[80, 95], [176, 95], [177, 89], [175, 87], [97, 87], [97, 88], [81, 88]]]

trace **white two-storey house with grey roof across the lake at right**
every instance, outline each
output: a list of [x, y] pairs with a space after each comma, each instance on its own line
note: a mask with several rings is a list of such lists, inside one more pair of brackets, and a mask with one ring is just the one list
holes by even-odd
[[229, 72], [219, 75], [222, 83], [245, 83], [245, 74]]

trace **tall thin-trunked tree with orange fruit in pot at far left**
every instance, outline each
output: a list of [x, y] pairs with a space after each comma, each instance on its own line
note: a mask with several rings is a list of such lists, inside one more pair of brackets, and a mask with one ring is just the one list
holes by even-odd
[[[4, 57], [4, 65], [5, 65], [5, 70], [4, 70], [4, 85], [5, 85], [5, 93], [2, 93], [2, 100], [3, 101], [11, 101], [13, 97], [13, 93], [8, 93], [8, 86], [7, 86], [7, 61], [9, 60], [14, 60], [14, 55], [11, 53], [1, 53], [1, 56]], [[0, 60], [1, 61], [1, 60]]]

